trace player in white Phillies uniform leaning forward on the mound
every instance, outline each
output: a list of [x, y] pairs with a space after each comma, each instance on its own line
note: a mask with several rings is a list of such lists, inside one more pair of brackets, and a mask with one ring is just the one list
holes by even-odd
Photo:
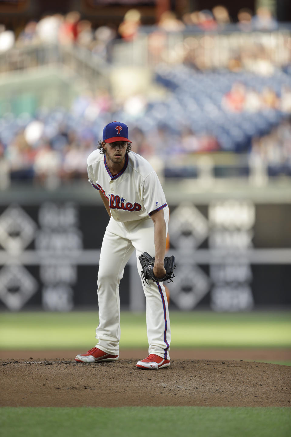
[[[98, 272], [98, 343], [75, 361], [116, 361], [119, 357], [119, 283], [131, 254], [155, 256], [154, 275], [164, 277], [164, 255], [169, 208], [157, 174], [140, 155], [130, 152], [131, 141], [124, 123], [113, 121], [103, 129], [103, 141], [87, 161], [89, 182], [110, 215], [100, 253]], [[148, 283], [147, 283], [148, 282]], [[140, 369], [170, 365], [171, 341], [168, 302], [162, 282], [144, 281], [147, 305], [148, 357], [137, 362]]]

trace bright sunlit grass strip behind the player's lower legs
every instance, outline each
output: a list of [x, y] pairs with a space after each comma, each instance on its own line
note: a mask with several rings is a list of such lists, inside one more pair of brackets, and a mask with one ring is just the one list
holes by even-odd
[[[290, 347], [291, 312], [171, 312], [171, 347]], [[97, 312], [0, 314], [0, 349], [91, 347]], [[145, 313], [121, 312], [120, 347], [148, 347]]]

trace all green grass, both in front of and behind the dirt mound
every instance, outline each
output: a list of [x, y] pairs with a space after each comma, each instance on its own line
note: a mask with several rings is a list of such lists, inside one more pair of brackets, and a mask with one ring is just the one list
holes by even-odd
[[[70, 349], [94, 344], [96, 312], [2, 313], [0, 349]], [[291, 347], [290, 312], [172, 312], [171, 346]], [[120, 347], [147, 348], [145, 314], [122, 312]], [[291, 364], [278, 362], [278, 364]], [[3, 435], [55, 437], [287, 437], [290, 408], [122, 407], [0, 409]]]

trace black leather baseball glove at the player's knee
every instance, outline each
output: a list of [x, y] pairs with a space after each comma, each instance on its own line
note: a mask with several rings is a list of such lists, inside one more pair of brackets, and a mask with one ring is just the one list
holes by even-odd
[[166, 271], [166, 274], [164, 277], [155, 277], [154, 275], [154, 257], [151, 257], [147, 252], [144, 252], [138, 257], [140, 260], [140, 264], [142, 267], [142, 271], [140, 273], [140, 279], [143, 279], [148, 284], [147, 280], [151, 279], [155, 282], [174, 282], [173, 279], [175, 277], [174, 275], [174, 269], [175, 266], [175, 257], [172, 255], [171, 257], [164, 257], [164, 268]]

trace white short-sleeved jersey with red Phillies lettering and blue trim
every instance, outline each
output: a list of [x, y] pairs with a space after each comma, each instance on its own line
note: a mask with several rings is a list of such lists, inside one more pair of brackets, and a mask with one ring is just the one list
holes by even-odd
[[106, 196], [116, 222], [140, 220], [167, 206], [157, 174], [137, 153], [125, 155], [123, 169], [115, 176], [98, 149], [89, 155], [87, 167], [89, 182]]

